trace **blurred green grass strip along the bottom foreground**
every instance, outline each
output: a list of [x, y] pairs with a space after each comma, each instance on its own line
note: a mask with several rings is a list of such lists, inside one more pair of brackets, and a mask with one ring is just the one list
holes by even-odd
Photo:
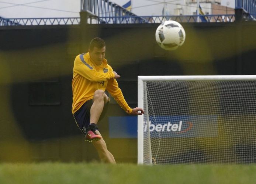
[[250, 184], [256, 165], [2, 163], [1, 184]]

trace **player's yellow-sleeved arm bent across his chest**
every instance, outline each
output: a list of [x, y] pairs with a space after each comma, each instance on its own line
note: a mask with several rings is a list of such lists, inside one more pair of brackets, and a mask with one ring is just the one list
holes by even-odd
[[113, 71], [107, 73], [98, 72], [89, 64], [84, 63], [78, 56], [74, 62], [74, 71], [90, 81], [106, 81], [115, 78], [115, 73]]

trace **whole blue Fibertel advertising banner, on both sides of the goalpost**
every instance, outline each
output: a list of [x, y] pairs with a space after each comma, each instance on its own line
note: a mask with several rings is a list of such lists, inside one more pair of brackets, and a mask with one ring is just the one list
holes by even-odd
[[[217, 137], [218, 117], [198, 116], [150, 116], [149, 127], [144, 122], [144, 132], [150, 131], [151, 138], [171, 137]], [[110, 138], [137, 138], [137, 117], [109, 117]]]

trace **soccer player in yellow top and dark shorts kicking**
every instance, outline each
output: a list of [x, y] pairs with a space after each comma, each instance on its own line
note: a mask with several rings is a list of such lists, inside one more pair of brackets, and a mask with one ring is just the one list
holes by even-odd
[[103, 162], [115, 163], [114, 156], [107, 146], [97, 123], [104, 117], [110, 99], [108, 93], [128, 114], [141, 115], [143, 109], [131, 109], [118, 87], [120, 75], [108, 65], [105, 57], [105, 42], [101, 38], [91, 40], [88, 52], [79, 54], [74, 61], [72, 91], [72, 113], [77, 126], [85, 135], [85, 140], [92, 142]]

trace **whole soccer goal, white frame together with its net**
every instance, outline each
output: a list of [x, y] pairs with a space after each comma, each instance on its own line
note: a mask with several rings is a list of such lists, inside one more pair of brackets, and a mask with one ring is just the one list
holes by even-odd
[[138, 163], [256, 163], [256, 75], [138, 76]]

